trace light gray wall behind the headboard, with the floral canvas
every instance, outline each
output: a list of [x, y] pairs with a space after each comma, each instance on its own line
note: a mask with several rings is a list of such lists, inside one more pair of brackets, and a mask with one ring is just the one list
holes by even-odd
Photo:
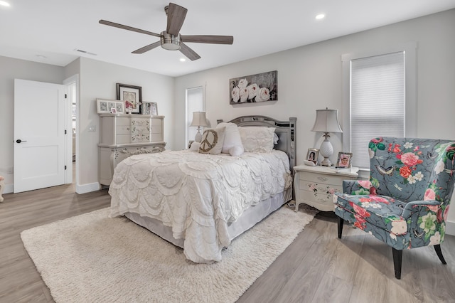
[[[185, 90], [205, 85], [206, 112], [216, 119], [266, 115], [277, 119], [297, 117], [297, 163], [310, 147], [319, 148], [321, 134], [311, 132], [316, 110], [338, 109], [343, 120], [341, 55], [375, 48], [417, 43], [417, 137], [455, 139], [455, 10], [424, 16], [370, 31], [334, 38], [260, 58], [185, 75], [176, 79], [174, 145], [183, 148]], [[229, 79], [278, 71], [279, 100], [257, 105], [229, 105]], [[341, 125], [343, 127], [343, 125]], [[342, 149], [341, 134], [331, 136], [335, 153]], [[454, 202], [455, 203], [455, 202]], [[455, 223], [455, 207], [449, 213]]]

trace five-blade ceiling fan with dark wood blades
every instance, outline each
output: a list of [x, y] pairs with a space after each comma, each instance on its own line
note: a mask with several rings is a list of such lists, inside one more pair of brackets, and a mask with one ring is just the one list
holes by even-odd
[[213, 43], [213, 44], [232, 44], [234, 42], [234, 37], [232, 36], [213, 36], [213, 35], [198, 35], [198, 36], [184, 36], [179, 33], [183, 21], [185, 21], [186, 12], [188, 9], [185, 9], [182, 6], [177, 4], [170, 3], [164, 8], [166, 15], [168, 16], [168, 24], [166, 31], [161, 31], [161, 33], [152, 33], [151, 31], [144, 31], [143, 29], [134, 28], [132, 26], [125, 26], [123, 24], [114, 23], [111, 21], [100, 20], [101, 24], [107, 26], [114, 26], [117, 28], [123, 28], [127, 31], [136, 31], [137, 33], [145, 33], [146, 35], [155, 36], [160, 38], [160, 41], [151, 43], [148, 46], [144, 46], [137, 50], [132, 51], [132, 53], [145, 53], [146, 51], [152, 50], [158, 46], [166, 50], [180, 50], [183, 55], [186, 55], [190, 60], [198, 60], [200, 55], [198, 55], [194, 50], [186, 46], [183, 42], [194, 42], [194, 43]]

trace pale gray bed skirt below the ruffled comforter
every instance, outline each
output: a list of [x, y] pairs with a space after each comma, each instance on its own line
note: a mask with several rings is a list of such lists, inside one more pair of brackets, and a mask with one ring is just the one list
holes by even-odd
[[[235, 222], [228, 225], [230, 240], [233, 240], [238, 235], [252, 228], [256, 223], [260, 222], [265, 217], [269, 216], [270, 213], [273, 213], [280, 208], [284, 203], [291, 200], [291, 198], [292, 187], [282, 193], [277, 193], [272, 198], [268, 198], [267, 200], [257, 203], [255, 206], [247, 208], [247, 210], [242, 213], [242, 216], [237, 218]], [[172, 228], [163, 225], [161, 221], [149, 217], [142, 217], [139, 213], [125, 213], [124, 216], [129, 218], [129, 220], [132, 220], [134, 223], [150, 230], [152, 233], [159, 235], [161, 238], [172, 243], [173, 245], [183, 248], [183, 242], [185, 239], [173, 238]]]

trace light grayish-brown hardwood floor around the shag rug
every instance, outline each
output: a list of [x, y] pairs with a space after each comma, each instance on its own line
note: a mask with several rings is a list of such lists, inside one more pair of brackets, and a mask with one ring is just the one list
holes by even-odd
[[[0, 203], [0, 302], [53, 302], [20, 233], [109, 206], [107, 190], [77, 195], [73, 186], [9, 193]], [[286, 224], [286, 222], [283, 222]], [[392, 250], [345, 225], [336, 237], [333, 213], [319, 213], [238, 302], [455, 302], [455, 236], [433, 248], [403, 252], [396, 280]], [[264, 248], [267, 249], [267, 248]]]

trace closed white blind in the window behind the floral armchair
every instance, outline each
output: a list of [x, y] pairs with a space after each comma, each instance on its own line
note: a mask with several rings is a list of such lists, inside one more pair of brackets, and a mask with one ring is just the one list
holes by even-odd
[[350, 61], [353, 166], [370, 168], [368, 142], [405, 136], [405, 52]]

